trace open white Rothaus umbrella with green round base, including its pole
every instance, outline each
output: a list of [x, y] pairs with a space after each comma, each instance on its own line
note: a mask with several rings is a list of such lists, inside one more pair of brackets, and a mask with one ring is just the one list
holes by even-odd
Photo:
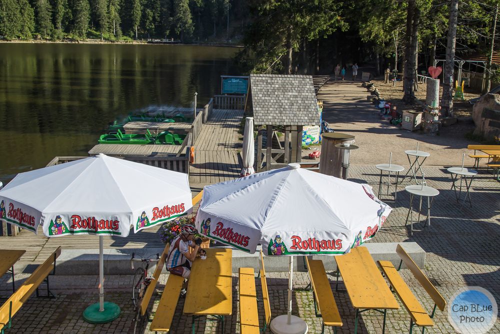
[[187, 174], [103, 154], [17, 174], [0, 190], [3, 220], [47, 237], [99, 235], [99, 302], [83, 312], [93, 323], [113, 320], [104, 303], [103, 235], [134, 232], [189, 214]]

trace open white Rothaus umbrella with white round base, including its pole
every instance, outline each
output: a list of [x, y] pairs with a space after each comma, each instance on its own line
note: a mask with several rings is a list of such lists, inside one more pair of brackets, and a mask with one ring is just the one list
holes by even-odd
[[[299, 164], [206, 186], [196, 214], [202, 234], [268, 256], [344, 254], [371, 239], [392, 210], [371, 187], [300, 169]], [[290, 257], [288, 314], [271, 321], [277, 333], [304, 333], [291, 315]]]

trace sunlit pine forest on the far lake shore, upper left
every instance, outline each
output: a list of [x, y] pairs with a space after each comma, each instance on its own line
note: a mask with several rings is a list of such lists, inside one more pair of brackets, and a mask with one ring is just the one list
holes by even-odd
[[[105, 40], [230, 38], [229, 20], [247, 16], [243, 0], [0, 0], [3, 39]], [[231, 30], [231, 32], [233, 32]]]

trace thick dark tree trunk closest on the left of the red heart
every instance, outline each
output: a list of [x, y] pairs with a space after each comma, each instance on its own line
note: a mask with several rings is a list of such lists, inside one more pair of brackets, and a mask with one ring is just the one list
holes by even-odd
[[406, 16], [406, 50], [404, 52], [403, 102], [413, 104], [415, 100], [416, 53], [420, 11], [415, 0], [408, 1]]

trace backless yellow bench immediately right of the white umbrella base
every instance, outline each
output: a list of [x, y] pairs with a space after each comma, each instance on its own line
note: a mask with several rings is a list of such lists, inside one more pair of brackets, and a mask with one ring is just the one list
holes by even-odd
[[337, 327], [342, 326], [342, 319], [338, 313], [337, 304], [331, 291], [330, 281], [326, 276], [323, 261], [309, 260], [304, 256], [309, 272], [310, 285], [312, 288], [314, 312], [317, 317], [321, 317], [321, 333], [324, 333], [324, 326], [333, 326], [333, 332], [337, 332]]

